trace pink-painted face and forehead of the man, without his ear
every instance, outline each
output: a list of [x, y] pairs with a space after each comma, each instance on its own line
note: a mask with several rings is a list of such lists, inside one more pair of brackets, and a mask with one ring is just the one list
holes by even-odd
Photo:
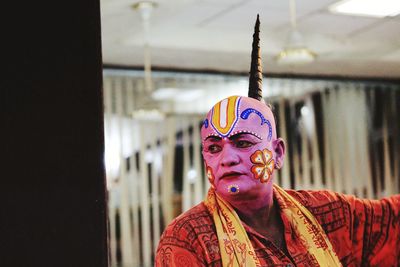
[[265, 190], [273, 176], [275, 121], [269, 107], [231, 96], [214, 105], [201, 129], [207, 176], [226, 198]]

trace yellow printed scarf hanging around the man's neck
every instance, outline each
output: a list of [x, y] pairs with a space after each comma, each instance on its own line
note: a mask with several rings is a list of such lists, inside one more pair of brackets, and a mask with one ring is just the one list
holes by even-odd
[[[283, 214], [295, 231], [298, 231], [304, 245], [318, 264], [328, 267], [342, 266], [333, 251], [332, 244], [314, 216], [282, 188], [277, 185], [274, 185], [274, 188], [287, 204], [287, 208], [282, 209]], [[240, 218], [232, 206], [219, 197], [213, 188], [209, 189], [204, 203], [212, 214], [217, 229], [222, 265], [261, 266]]]

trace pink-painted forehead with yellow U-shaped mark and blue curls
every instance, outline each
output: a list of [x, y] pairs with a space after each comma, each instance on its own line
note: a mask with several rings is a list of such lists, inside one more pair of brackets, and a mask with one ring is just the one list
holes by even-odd
[[231, 96], [221, 100], [208, 112], [201, 130], [202, 139], [209, 136], [229, 137], [251, 133], [271, 140], [273, 129], [271, 110], [262, 102], [249, 97]]

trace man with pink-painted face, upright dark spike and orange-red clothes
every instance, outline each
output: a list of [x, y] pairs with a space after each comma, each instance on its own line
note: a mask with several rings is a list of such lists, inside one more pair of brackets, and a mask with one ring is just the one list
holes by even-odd
[[261, 99], [257, 17], [250, 97], [214, 105], [201, 129], [206, 200], [164, 231], [156, 266], [399, 266], [400, 195], [361, 200], [273, 184], [285, 144]]

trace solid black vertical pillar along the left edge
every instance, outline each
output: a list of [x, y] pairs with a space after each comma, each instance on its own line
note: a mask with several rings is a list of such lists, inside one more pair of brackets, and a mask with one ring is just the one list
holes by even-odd
[[0, 266], [107, 266], [99, 0], [5, 3]]

